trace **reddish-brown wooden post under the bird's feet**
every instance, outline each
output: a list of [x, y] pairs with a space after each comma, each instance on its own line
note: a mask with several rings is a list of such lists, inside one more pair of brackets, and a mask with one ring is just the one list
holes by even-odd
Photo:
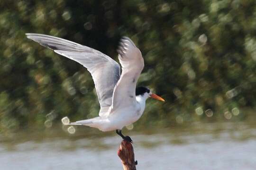
[[136, 170], [137, 161], [134, 161], [133, 147], [127, 140], [122, 140], [118, 156], [121, 159], [124, 170]]

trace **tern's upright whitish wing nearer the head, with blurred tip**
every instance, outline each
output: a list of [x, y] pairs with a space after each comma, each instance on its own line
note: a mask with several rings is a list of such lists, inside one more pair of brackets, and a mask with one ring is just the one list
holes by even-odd
[[112, 110], [136, 102], [135, 89], [137, 79], [144, 68], [144, 59], [141, 52], [128, 37], [121, 39], [117, 51], [119, 53], [119, 62], [122, 66], [122, 74], [114, 89]]

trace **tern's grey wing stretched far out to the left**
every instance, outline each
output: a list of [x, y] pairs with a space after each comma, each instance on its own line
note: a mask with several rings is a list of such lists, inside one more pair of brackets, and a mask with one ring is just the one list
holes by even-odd
[[98, 94], [100, 116], [112, 104], [112, 95], [120, 77], [119, 64], [109, 56], [90, 47], [44, 34], [27, 33], [27, 38], [54, 50], [56, 53], [82, 64], [91, 73]]

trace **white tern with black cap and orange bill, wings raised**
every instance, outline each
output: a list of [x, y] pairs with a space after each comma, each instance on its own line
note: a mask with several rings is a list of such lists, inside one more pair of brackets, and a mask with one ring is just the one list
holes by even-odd
[[122, 134], [122, 128], [142, 116], [147, 98], [165, 101], [147, 87], [136, 88], [144, 68], [144, 59], [135, 43], [128, 37], [121, 38], [117, 49], [122, 67], [120, 74], [119, 64], [100, 51], [50, 35], [26, 35], [57, 54], [82, 64], [91, 73], [101, 107], [99, 117], [79, 120], [68, 125], [85, 125], [103, 132], [116, 130], [119, 136], [132, 143], [129, 136]]

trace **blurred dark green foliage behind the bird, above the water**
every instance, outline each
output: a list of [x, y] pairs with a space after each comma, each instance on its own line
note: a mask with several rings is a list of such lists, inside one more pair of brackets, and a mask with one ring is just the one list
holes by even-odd
[[120, 37], [131, 37], [145, 59], [138, 84], [166, 100], [148, 101], [140, 124], [243, 119], [241, 110], [256, 106], [255, 0], [2, 0], [0, 9], [2, 130], [98, 114], [86, 69], [29, 32], [114, 59]]

